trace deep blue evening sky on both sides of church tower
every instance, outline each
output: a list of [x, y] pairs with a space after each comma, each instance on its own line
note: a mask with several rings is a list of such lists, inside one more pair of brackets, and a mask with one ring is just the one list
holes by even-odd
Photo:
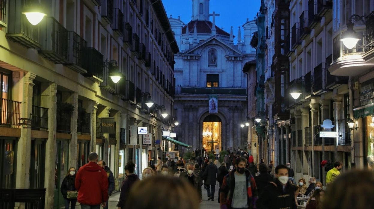
[[[191, 21], [192, 1], [191, 0], [162, 0], [168, 17], [181, 16], [181, 20], [187, 24]], [[230, 33], [233, 26], [234, 36], [237, 36], [238, 27], [245, 24], [247, 18], [253, 20], [260, 9], [261, 0], [210, 0], [209, 13], [213, 11], [220, 16], [215, 17], [215, 24]], [[212, 21], [212, 17], [210, 17]], [[243, 36], [243, 30], [242, 30]], [[243, 38], [243, 37], [242, 37]], [[234, 40], [236, 42], [236, 38]]]

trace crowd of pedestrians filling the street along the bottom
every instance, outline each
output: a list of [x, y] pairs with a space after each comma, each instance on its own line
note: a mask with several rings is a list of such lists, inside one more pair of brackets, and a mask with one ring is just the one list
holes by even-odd
[[[315, 177], [309, 178], [308, 182], [304, 178], [295, 182], [290, 163], [278, 165], [273, 170], [270, 168], [272, 162], [266, 165], [261, 159], [257, 167], [253, 156], [239, 148], [232, 162], [229, 159], [233, 153], [224, 156], [217, 167], [214, 159], [199, 163], [201, 155], [194, 152], [195, 158], [189, 162], [183, 159], [177, 162], [178, 166], [186, 166], [179, 178], [174, 177], [171, 163], [174, 160], [169, 159], [164, 165], [159, 157], [157, 163], [153, 162], [142, 171], [142, 180], [134, 173], [135, 164], [130, 161], [125, 166], [126, 178], [120, 187], [117, 207], [196, 209], [205, 199], [202, 185], [205, 185], [207, 200], [214, 201], [218, 182], [217, 201], [221, 209], [296, 209], [303, 202], [306, 209], [374, 208], [371, 201], [374, 176], [367, 170], [353, 170], [340, 177], [342, 164], [335, 162], [327, 172], [324, 187]], [[114, 190], [113, 173], [96, 153], [90, 153], [88, 161], [78, 171], [70, 167], [62, 181], [65, 209], [69, 206], [74, 209], [77, 202], [82, 209], [108, 208], [108, 198]], [[233, 168], [227, 163], [232, 163]]]

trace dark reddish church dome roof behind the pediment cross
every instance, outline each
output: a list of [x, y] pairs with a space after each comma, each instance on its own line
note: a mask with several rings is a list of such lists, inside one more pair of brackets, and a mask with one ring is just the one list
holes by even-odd
[[[186, 28], [188, 25], [188, 32], [190, 34], [193, 34], [194, 32], [194, 26], [196, 24], [196, 31], [197, 33], [206, 33], [206, 34], [211, 34], [212, 33], [212, 25], [213, 23], [211, 21], [206, 21], [206, 20], [193, 20], [188, 22], [186, 25], [183, 26], [182, 28], [182, 34], [186, 34]], [[230, 37], [230, 34], [227, 33], [226, 31], [222, 30], [221, 28], [218, 28], [217, 25], [215, 25], [215, 30], [217, 31], [217, 34], [220, 34], [222, 36], [227, 36]]]

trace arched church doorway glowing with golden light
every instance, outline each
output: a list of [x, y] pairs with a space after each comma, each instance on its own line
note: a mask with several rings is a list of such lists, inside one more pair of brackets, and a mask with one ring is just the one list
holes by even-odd
[[203, 148], [207, 151], [214, 151], [218, 148], [221, 151], [222, 121], [220, 117], [210, 114], [203, 120]]

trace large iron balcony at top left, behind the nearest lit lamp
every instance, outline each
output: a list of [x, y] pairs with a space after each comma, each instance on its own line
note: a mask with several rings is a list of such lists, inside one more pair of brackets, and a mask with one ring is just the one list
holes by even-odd
[[[5, 15], [8, 15], [7, 38], [27, 48], [39, 49], [42, 46], [42, 24], [32, 25], [25, 15], [17, 12], [22, 10], [22, 8], [27, 5], [28, 1], [29, 0], [22, 0], [21, 4], [12, 3], [7, 6], [6, 0], [0, 0], [0, 17], [4, 16], [5, 18]], [[2, 9], [1, 3], [3, 3]], [[9, 7], [9, 13], [6, 13], [7, 10], [4, 6]]]

